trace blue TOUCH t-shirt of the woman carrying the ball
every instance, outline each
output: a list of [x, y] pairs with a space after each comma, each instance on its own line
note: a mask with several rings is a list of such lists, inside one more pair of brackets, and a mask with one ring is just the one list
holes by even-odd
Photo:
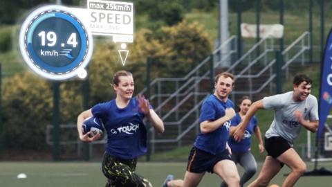
[[[151, 108], [151, 106], [150, 106]], [[145, 117], [138, 109], [137, 98], [120, 109], [116, 100], [92, 107], [93, 116], [100, 118], [107, 131], [106, 152], [121, 159], [133, 159], [147, 152]]]

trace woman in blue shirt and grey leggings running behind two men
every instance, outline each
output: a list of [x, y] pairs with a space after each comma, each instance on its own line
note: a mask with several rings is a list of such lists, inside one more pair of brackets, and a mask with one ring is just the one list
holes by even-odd
[[[237, 125], [241, 123], [242, 118], [246, 116], [248, 109], [251, 105], [252, 101], [248, 96], [243, 96], [240, 100], [240, 111], [232, 118], [230, 123], [230, 133], [232, 134], [236, 129]], [[249, 125], [247, 126], [245, 135], [243, 139], [239, 142], [235, 141], [232, 136], [228, 139], [228, 144], [232, 150], [232, 160], [235, 163], [239, 163], [243, 169], [244, 173], [240, 179], [240, 185], [243, 186], [252, 176], [255, 175], [257, 171], [257, 163], [255, 157], [250, 152], [250, 144], [251, 144], [251, 135], [255, 133], [258, 140], [258, 148], [259, 152], [264, 152], [263, 140], [261, 139], [261, 130], [257, 125], [256, 116], [252, 116], [250, 118]], [[221, 186], [227, 186], [225, 183], [221, 184]]]

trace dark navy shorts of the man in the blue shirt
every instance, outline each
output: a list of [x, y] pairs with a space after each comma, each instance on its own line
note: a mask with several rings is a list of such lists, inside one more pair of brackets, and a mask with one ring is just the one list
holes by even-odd
[[192, 147], [188, 157], [187, 171], [202, 173], [202, 172], [211, 172], [213, 173], [213, 167], [222, 160], [232, 160], [228, 150], [224, 150], [219, 154], [211, 154], [210, 152], [205, 152], [198, 148]]

